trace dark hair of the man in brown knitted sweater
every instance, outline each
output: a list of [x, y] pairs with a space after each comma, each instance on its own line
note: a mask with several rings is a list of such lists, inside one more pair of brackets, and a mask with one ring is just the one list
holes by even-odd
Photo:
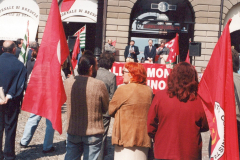
[[88, 75], [90, 67], [96, 66], [95, 56], [94, 55], [83, 55], [78, 63], [78, 74], [79, 75]]

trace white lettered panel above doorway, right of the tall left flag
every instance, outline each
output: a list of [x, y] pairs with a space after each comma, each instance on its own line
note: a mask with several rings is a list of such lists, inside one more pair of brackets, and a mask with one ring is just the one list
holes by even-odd
[[76, 0], [69, 11], [61, 12], [62, 21], [97, 23], [97, 2], [97, 0]]

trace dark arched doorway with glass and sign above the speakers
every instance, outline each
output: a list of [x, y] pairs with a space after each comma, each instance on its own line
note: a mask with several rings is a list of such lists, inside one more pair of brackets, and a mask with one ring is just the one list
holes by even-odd
[[[180, 60], [184, 61], [193, 41], [195, 14], [188, 0], [138, 0], [130, 15], [130, 39], [171, 40], [179, 33]], [[144, 42], [144, 41], [142, 41]], [[146, 46], [145, 44], [137, 44]]]

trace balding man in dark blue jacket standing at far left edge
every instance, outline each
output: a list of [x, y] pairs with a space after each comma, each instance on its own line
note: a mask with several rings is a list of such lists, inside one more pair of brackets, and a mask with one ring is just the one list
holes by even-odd
[[[20, 102], [27, 70], [15, 57], [15, 43], [5, 41], [0, 56], [0, 87], [4, 89], [5, 100], [0, 101], [0, 159], [15, 159], [15, 137]], [[5, 147], [2, 151], [2, 137], [5, 129]]]

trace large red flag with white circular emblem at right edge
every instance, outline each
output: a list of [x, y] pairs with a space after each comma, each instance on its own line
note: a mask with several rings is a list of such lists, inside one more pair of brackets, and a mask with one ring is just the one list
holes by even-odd
[[199, 84], [212, 137], [211, 159], [238, 160], [231, 39], [228, 21]]

